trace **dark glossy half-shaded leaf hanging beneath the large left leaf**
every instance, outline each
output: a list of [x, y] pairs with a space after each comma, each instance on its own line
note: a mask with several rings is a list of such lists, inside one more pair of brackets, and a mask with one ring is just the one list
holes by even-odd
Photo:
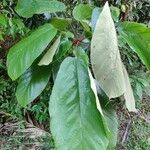
[[45, 89], [51, 69], [49, 66], [33, 65], [19, 79], [16, 97], [18, 103], [25, 107], [31, 103]]

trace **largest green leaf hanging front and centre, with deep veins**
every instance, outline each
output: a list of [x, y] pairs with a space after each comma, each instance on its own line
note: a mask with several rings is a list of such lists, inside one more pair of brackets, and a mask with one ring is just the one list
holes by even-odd
[[63, 61], [49, 111], [57, 150], [106, 150], [108, 139], [83, 60], [69, 57]]

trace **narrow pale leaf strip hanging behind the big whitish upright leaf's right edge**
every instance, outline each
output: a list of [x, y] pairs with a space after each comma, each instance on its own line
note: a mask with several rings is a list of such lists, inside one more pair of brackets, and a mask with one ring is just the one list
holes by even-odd
[[125, 83], [126, 83], [126, 91], [124, 93], [126, 107], [129, 111], [136, 112], [137, 110], [135, 108], [135, 99], [134, 99], [132, 87], [130, 84], [129, 76], [123, 64], [122, 64], [122, 67], [123, 67], [124, 78], [125, 78]]

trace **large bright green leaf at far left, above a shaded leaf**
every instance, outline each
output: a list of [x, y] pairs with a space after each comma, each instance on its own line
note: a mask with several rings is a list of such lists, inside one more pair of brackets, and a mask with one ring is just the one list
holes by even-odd
[[12, 80], [17, 79], [32, 65], [56, 33], [57, 30], [52, 25], [45, 24], [10, 49], [7, 67]]

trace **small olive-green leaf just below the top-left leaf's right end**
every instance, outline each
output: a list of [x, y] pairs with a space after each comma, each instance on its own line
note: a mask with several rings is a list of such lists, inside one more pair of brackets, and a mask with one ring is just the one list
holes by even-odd
[[65, 30], [72, 20], [70, 18], [52, 18], [50, 23], [58, 30]]

